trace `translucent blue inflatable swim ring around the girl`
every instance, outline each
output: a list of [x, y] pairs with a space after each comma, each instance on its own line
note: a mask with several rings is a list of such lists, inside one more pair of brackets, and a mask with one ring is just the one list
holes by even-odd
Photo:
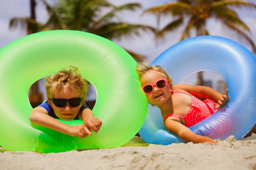
[[[217, 36], [199, 36], [181, 41], [160, 54], [151, 65], [160, 65], [178, 83], [188, 74], [216, 71], [226, 80], [230, 101], [225, 108], [190, 126], [196, 134], [212, 139], [234, 135], [241, 139], [256, 120], [256, 58], [233, 40]], [[160, 109], [148, 106], [139, 134], [147, 143], [169, 145], [184, 142], [166, 130]]]

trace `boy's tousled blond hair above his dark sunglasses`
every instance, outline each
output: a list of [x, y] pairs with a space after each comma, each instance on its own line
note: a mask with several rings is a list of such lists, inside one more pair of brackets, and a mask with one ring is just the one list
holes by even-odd
[[44, 78], [44, 80], [46, 80], [44, 87], [46, 87], [48, 99], [52, 99], [53, 95], [63, 87], [79, 92], [80, 97], [85, 99], [89, 87], [89, 83], [82, 78], [77, 67], [72, 66], [69, 66], [69, 69], [61, 69], [56, 74]]

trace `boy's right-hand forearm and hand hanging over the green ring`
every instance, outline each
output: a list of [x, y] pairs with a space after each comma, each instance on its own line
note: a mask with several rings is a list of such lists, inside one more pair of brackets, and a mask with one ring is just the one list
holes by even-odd
[[84, 121], [85, 132], [88, 135], [92, 135], [92, 131], [98, 133], [102, 122], [100, 118], [94, 117], [93, 112], [89, 108], [85, 108], [79, 113], [79, 119]]

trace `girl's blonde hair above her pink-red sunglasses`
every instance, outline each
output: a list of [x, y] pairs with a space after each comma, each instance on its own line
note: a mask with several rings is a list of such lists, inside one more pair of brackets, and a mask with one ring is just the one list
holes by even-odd
[[156, 72], [162, 74], [163, 76], [165, 76], [166, 79], [168, 80], [168, 82], [170, 84], [172, 84], [172, 79], [171, 79], [170, 75], [161, 66], [149, 66], [146, 62], [140, 62], [137, 64], [137, 67], [135, 70], [139, 74], [139, 80], [142, 79], [142, 77], [144, 76], [144, 74], [147, 73], [147, 71], [152, 70], [152, 71], [156, 71]]

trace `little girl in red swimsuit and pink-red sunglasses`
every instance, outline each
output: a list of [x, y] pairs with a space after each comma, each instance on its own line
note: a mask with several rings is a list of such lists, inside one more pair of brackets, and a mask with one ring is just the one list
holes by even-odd
[[[189, 128], [209, 117], [229, 101], [225, 95], [205, 86], [175, 84], [161, 66], [138, 63], [136, 71], [148, 103], [160, 108], [164, 126], [186, 142], [216, 144], [217, 141], [193, 133]], [[197, 97], [206, 98], [202, 101]]]

